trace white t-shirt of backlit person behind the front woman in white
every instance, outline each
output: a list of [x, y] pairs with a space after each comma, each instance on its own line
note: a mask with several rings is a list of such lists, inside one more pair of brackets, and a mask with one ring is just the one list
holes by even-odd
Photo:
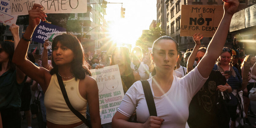
[[[131, 68], [132, 70], [135, 71], [134, 69], [134, 64], [131, 62]], [[144, 64], [144, 62], [140, 62], [140, 65], [139, 65], [139, 68], [138, 68], [138, 73], [139, 73], [139, 76], [140, 76], [140, 80], [147, 80], [148, 79], [148, 75], [147, 75], [147, 70], [149, 70], [148, 66], [146, 64]]]

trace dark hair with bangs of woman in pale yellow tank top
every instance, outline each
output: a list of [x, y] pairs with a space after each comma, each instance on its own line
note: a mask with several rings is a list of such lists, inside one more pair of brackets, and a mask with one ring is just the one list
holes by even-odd
[[[76, 79], [84, 79], [85, 75], [91, 76], [91, 72], [89, 70], [89, 64], [85, 61], [84, 50], [80, 41], [74, 36], [70, 34], [63, 34], [56, 36], [52, 41], [52, 48], [54, 48], [58, 43], [62, 46], [68, 47], [73, 51], [75, 58], [71, 62], [71, 72], [74, 73]], [[52, 57], [52, 66], [53, 69], [50, 73], [53, 75], [58, 73], [58, 65], [55, 64]]]

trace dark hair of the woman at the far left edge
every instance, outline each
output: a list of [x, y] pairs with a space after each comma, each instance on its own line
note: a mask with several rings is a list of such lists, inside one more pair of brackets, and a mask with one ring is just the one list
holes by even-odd
[[[13, 53], [14, 53], [14, 43], [9, 42], [9, 41], [1, 41], [0, 45], [3, 48], [3, 50], [9, 55], [9, 61], [8, 61], [7, 68], [10, 69], [10, 71], [14, 71], [16, 68], [15, 64], [12, 62]], [[0, 63], [0, 71], [1, 70], [2, 70], [2, 63]]]

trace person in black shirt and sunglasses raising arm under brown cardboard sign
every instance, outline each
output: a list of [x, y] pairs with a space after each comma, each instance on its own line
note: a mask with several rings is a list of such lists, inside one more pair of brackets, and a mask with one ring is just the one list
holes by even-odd
[[[188, 59], [188, 73], [193, 70], [194, 61], [198, 65], [207, 51], [205, 47], [200, 47], [200, 40], [202, 38], [200, 33], [193, 35], [196, 45]], [[230, 117], [227, 111], [225, 113], [223, 112], [224, 109], [219, 110], [217, 107], [217, 103], [221, 104], [220, 99], [216, 98], [219, 97], [220, 92], [230, 93], [232, 88], [227, 84], [226, 78], [220, 71], [212, 70], [204, 86], [197, 92], [189, 104], [189, 118], [187, 122], [190, 128], [197, 128], [198, 126], [205, 128], [229, 127]]]

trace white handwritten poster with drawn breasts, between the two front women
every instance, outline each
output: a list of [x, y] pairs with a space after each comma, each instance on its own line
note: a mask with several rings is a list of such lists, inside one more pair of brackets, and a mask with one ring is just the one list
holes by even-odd
[[112, 122], [124, 97], [118, 65], [90, 71], [98, 85], [101, 124]]

